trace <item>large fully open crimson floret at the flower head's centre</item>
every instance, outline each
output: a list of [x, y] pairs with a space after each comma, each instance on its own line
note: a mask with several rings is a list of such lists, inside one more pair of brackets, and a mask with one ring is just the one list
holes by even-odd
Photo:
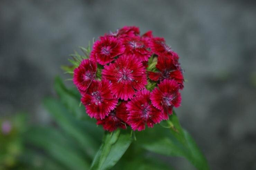
[[134, 56], [122, 55], [115, 63], [105, 65], [102, 77], [111, 81], [110, 89], [117, 98], [128, 100], [147, 84], [145, 67]]

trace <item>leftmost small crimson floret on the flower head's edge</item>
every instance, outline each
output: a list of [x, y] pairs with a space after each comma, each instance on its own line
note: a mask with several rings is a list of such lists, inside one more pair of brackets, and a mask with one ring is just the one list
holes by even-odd
[[96, 77], [96, 72], [97, 64], [89, 59], [84, 59], [81, 64], [74, 69], [73, 82], [79, 90], [86, 92], [93, 79]]

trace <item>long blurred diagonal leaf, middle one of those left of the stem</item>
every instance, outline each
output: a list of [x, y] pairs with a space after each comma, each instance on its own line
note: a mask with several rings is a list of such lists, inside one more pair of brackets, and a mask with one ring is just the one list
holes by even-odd
[[[44, 105], [54, 117], [56, 123], [69, 135], [81, 145], [83, 150], [92, 158], [98, 148], [98, 142], [95, 141], [93, 135], [101, 134], [100, 129], [96, 128], [96, 125], [90, 126], [90, 124], [84, 124], [88, 126], [85, 128], [81, 122], [76, 120], [71, 113], [57, 100], [53, 98], [47, 98], [44, 101]], [[93, 134], [96, 132], [96, 134]], [[91, 135], [90, 135], [91, 134]]]

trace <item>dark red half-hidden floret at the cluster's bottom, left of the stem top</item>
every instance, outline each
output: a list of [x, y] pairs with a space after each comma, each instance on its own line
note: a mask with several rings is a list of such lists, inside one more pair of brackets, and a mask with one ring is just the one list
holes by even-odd
[[128, 117], [126, 104], [127, 102], [122, 102], [115, 110], [112, 110], [105, 119], [98, 120], [97, 124], [102, 125], [103, 129], [109, 132], [112, 132], [117, 128], [126, 129]]

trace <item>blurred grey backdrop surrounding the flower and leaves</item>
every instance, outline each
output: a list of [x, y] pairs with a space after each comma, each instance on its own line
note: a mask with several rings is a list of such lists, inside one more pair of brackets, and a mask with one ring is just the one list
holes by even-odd
[[56, 75], [67, 78], [68, 55], [138, 26], [179, 54], [187, 82], [176, 112], [211, 169], [256, 169], [255, 19], [256, 3], [242, 0], [1, 0], [0, 116], [24, 111], [47, 123], [41, 103], [55, 95]]

